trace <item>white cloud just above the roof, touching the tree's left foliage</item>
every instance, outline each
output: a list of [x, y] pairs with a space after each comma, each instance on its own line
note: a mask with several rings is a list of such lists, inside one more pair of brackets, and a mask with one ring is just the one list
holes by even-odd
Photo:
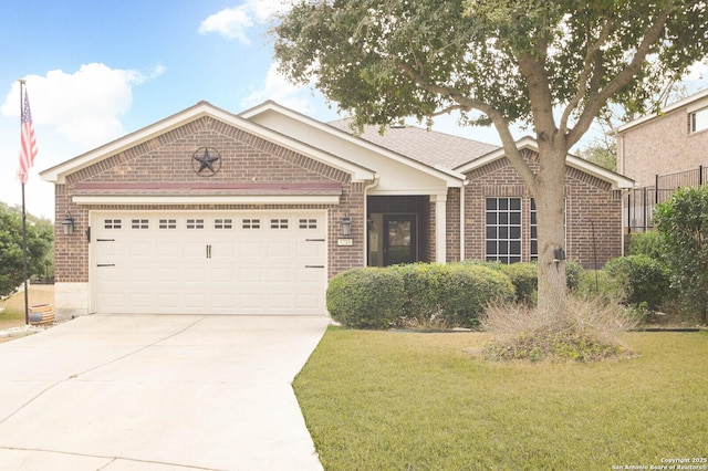
[[266, 74], [263, 88], [253, 91], [241, 101], [241, 106], [249, 108], [264, 101], [272, 100], [280, 105], [295, 109], [300, 113], [313, 115], [316, 109], [312, 100], [312, 90], [309, 86], [293, 85], [278, 73], [278, 64], [272, 63]]

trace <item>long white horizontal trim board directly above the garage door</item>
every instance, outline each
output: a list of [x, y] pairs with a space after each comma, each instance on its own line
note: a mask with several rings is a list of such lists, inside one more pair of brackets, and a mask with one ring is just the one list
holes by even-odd
[[149, 196], [149, 195], [77, 195], [76, 205], [339, 205], [339, 195], [210, 195], [210, 196]]

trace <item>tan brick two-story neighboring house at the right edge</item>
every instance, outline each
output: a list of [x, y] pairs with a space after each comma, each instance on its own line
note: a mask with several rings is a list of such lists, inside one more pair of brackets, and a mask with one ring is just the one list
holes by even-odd
[[[617, 171], [638, 187], [655, 186], [657, 177], [708, 167], [708, 90], [620, 126], [616, 136]], [[664, 187], [659, 182], [659, 189]]]

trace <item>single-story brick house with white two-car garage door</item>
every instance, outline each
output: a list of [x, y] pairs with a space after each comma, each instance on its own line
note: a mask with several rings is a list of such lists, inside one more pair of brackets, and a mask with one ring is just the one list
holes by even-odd
[[[535, 165], [533, 140], [519, 145]], [[350, 268], [538, 251], [532, 198], [499, 147], [416, 127], [357, 137], [272, 102], [240, 115], [200, 102], [41, 176], [64, 318], [325, 314], [327, 280]], [[632, 186], [569, 156], [569, 259], [622, 253]]]

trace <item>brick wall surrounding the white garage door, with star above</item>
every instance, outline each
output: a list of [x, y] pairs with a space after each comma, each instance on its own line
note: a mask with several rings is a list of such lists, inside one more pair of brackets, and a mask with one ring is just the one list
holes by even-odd
[[[195, 174], [191, 156], [199, 147], [215, 147], [221, 155], [221, 168], [212, 177]], [[77, 206], [71, 192], [79, 182], [327, 182], [342, 184], [340, 205], [199, 205], [199, 206]], [[364, 263], [365, 220], [363, 184], [320, 161], [300, 155], [225, 123], [202, 117], [126, 149], [66, 177], [55, 187], [56, 281], [88, 281], [88, 244], [85, 231], [92, 209], [326, 209], [330, 221], [330, 276]], [[65, 237], [61, 222], [66, 211], [75, 221], [75, 233]], [[341, 220], [352, 219], [351, 247], [337, 247]]]

